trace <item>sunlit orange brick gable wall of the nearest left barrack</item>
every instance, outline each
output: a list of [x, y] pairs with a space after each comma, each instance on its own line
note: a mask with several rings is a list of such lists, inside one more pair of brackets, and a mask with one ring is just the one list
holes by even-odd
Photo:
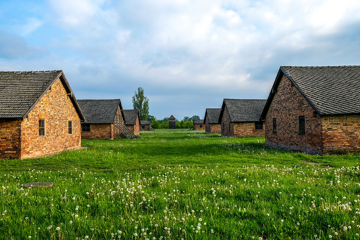
[[[38, 120], [45, 119], [45, 136], [39, 136]], [[72, 120], [72, 134], [68, 134]], [[57, 79], [28, 117], [21, 121], [21, 158], [41, 156], [81, 146], [80, 118], [66, 90]]]

